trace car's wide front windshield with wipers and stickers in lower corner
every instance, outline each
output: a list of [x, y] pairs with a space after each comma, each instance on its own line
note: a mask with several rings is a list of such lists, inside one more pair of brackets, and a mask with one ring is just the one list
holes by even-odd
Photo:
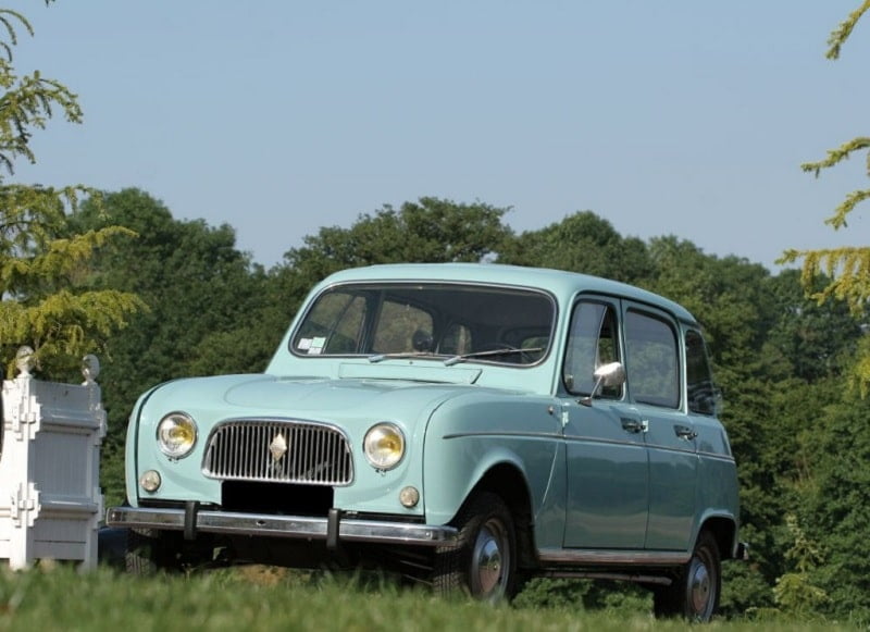
[[[347, 284], [316, 297], [291, 339], [300, 356], [453, 358], [533, 364], [549, 347], [543, 292], [478, 285]], [[493, 352], [522, 350], [522, 352]]]

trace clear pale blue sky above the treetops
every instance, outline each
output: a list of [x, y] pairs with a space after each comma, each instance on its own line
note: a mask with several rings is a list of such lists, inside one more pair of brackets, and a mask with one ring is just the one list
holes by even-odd
[[424, 196], [510, 208], [518, 233], [589, 210], [771, 271], [867, 245], [870, 16], [859, 0], [7, 0], [14, 50], [78, 97], [10, 182], [138, 187], [229, 224], [272, 267], [323, 226]]

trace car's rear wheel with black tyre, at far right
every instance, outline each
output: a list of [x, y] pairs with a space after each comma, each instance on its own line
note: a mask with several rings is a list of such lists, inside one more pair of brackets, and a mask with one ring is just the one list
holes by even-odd
[[719, 545], [709, 531], [704, 531], [695, 544], [692, 559], [683, 567], [670, 586], [652, 591], [656, 617], [683, 617], [706, 623], [719, 607], [722, 588], [722, 566]]

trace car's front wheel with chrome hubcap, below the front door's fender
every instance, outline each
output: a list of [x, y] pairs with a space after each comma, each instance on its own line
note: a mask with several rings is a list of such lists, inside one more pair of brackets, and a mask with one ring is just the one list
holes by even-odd
[[435, 552], [436, 592], [492, 603], [510, 599], [517, 584], [517, 535], [505, 501], [489, 492], [477, 493], [462, 506], [453, 525], [459, 529], [457, 546]]

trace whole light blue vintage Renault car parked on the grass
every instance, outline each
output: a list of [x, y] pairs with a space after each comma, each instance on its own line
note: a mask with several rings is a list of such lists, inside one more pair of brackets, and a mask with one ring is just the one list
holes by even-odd
[[700, 327], [660, 296], [499, 264], [346, 270], [262, 374], [144, 394], [128, 567], [377, 567], [509, 598], [532, 575], [648, 585], [706, 621], [743, 558]]

